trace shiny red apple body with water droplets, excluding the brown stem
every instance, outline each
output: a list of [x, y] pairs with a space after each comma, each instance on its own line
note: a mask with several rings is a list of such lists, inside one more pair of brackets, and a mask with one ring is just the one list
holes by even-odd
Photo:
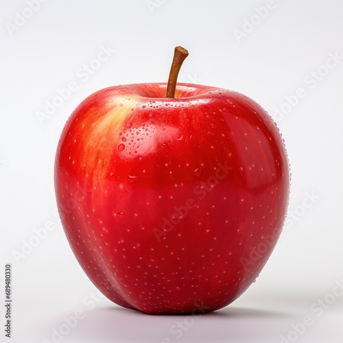
[[[148, 314], [220, 309], [255, 281], [289, 194], [283, 139], [234, 91], [165, 83], [87, 97], [62, 131], [55, 188], [84, 272]], [[174, 223], [174, 224], [173, 224]]]

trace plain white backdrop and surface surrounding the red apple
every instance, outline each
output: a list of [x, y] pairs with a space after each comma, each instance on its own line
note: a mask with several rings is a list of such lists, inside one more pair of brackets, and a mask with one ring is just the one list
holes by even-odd
[[[12, 264], [10, 342], [54, 342], [53, 329], [78, 310], [84, 318], [62, 342], [278, 343], [282, 335], [342, 342], [343, 296], [331, 292], [343, 283], [343, 60], [325, 64], [329, 54], [343, 56], [343, 3], [275, 0], [261, 19], [257, 8], [267, 3], [273, 1], [152, 0], [149, 8], [146, 0], [50, 0], [14, 29], [16, 12], [29, 16], [28, 5], [1, 1], [0, 274], [4, 285], [4, 265]], [[244, 36], [237, 39], [235, 30]], [[276, 119], [292, 168], [293, 215], [261, 276], [232, 305], [194, 320], [92, 300], [96, 289], [73, 257], [54, 198], [56, 145], [75, 106], [106, 86], [166, 81], [176, 45], [190, 52], [179, 81], [234, 89], [259, 102]], [[80, 69], [106, 46], [115, 52], [81, 78]], [[73, 81], [78, 90], [40, 122], [36, 113]], [[302, 99], [294, 98], [298, 88]], [[49, 222], [54, 230], [14, 259]], [[4, 307], [0, 316], [4, 323]], [[311, 326], [292, 333], [305, 316]], [[173, 331], [178, 321], [187, 328], [181, 336]], [[3, 329], [0, 337], [5, 342]]]

